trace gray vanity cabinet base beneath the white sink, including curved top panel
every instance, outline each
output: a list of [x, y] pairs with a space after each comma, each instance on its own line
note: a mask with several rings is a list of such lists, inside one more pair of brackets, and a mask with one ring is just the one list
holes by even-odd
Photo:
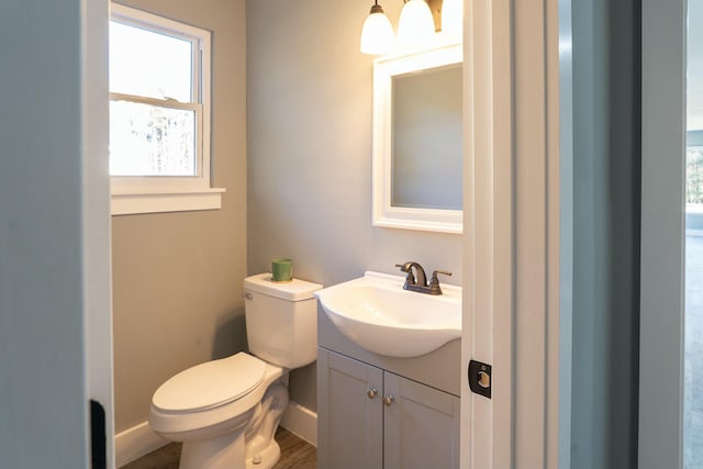
[[417, 357], [379, 355], [322, 306], [317, 339], [320, 469], [459, 467], [460, 339]]

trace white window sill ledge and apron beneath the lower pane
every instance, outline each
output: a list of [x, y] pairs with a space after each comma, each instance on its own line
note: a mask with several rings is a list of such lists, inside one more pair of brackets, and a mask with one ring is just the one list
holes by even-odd
[[224, 188], [212, 188], [188, 192], [164, 193], [113, 193], [112, 215], [140, 213], [190, 212], [219, 210], [222, 208]]

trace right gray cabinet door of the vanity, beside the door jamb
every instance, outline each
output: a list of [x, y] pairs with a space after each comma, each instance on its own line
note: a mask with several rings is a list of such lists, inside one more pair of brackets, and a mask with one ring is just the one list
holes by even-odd
[[390, 372], [383, 384], [383, 469], [458, 469], [459, 398]]

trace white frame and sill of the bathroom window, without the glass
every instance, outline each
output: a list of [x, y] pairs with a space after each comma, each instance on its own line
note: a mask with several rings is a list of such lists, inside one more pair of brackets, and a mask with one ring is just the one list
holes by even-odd
[[210, 32], [118, 3], [111, 3], [110, 20], [183, 38], [193, 45], [192, 102], [181, 103], [176, 100], [134, 97], [115, 92], [110, 92], [110, 100], [125, 99], [131, 102], [193, 110], [196, 111], [197, 125], [197, 176], [111, 176], [112, 214], [220, 209], [222, 206], [222, 193], [225, 189], [211, 187]]

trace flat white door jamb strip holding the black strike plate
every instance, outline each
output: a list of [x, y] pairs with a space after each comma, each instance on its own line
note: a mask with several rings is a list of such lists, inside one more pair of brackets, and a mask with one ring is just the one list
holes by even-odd
[[472, 394], [462, 379], [460, 462], [487, 469], [513, 466], [512, 340], [493, 335], [494, 326], [507, 336], [513, 328], [512, 11], [510, 1], [468, 0], [465, 12], [461, 367], [486, 361], [493, 376], [491, 400]]

